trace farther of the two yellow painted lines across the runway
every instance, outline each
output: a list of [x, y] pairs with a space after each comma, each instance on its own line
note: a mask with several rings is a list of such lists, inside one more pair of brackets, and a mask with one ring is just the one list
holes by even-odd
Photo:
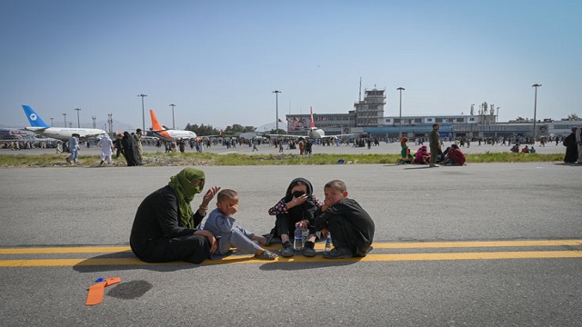
[[[324, 243], [316, 243], [316, 250], [323, 250]], [[527, 247], [527, 246], [582, 246], [582, 240], [545, 241], [486, 241], [486, 242], [416, 242], [416, 243], [373, 243], [375, 249], [434, 249], [434, 248], [476, 248], [476, 247]], [[268, 246], [276, 249], [277, 246]], [[129, 246], [85, 246], [0, 249], [1, 254], [53, 254], [53, 253], [120, 253], [131, 252]]]

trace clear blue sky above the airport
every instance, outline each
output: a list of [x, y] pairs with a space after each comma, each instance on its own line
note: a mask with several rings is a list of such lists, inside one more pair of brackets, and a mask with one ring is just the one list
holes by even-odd
[[[0, 124], [91, 116], [142, 125], [259, 126], [347, 113], [386, 89], [385, 115], [500, 121], [582, 115], [582, 1], [0, 1]], [[50, 123], [49, 123], [50, 124]], [[97, 126], [102, 128], [103, 125]]]

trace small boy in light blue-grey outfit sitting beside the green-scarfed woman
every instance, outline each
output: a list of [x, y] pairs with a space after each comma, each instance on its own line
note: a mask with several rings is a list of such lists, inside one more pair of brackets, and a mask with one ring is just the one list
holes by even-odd
[[213, 233], [218, 242], [216, 253], [228, 254], [231, 246], [242, 253], [255, 254], [258, 259], [274, 260], [277, 255], [260, 247], [256, 242], [268, 245], [270, 238], [256, 236], [254, 233], [235, 224], [238, 212], [238, 193], [234, 190], [222, 190], [216, 195], [216, 209], [208, 215], [204, 230]]

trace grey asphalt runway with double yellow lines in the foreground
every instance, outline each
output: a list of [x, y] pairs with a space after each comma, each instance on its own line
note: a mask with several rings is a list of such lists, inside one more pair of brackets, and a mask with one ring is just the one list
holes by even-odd
[[[473, 147], [473, 144], [471, 145]], [[267, 233], [295, 177], [342, 179], [376, 223], [362, 260], [142, 264], [138, 204], [181, 167], [0, 168], [2, 325], [574, 326], [582, 321], [582, 166], [205, 166]], [[201, 201], [197, 196], [196, 207]], [[321, 251], [323, 244], [318, 243]], [[272, 246], [278, 250], [278, 246]], [[85, 306], [99, 277], [120, 277]]]

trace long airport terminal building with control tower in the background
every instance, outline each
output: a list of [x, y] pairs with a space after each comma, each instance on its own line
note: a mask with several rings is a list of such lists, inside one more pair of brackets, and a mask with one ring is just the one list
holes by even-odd
[[[379, 137], [427, 137], [433, 124], [440, 125], [440, 135], [454, 138], [490, 138], [534, 135], [534, 122], [498, 122], [495, 106], [482, 105], [474, 113], [447, 115], [399, 115], [385, 116], [386, 90], [365, 90], [364, 100], [354, 104], [354, 110], [347, 114], [313, 114], [314, 123], [326, 135], [366, 133]], [[489, 106], [489, 105], [487, 105]], [[396, 109], [397, 112], [397, 109]], [[287, 131], [294, 134], [307, 134], [309, 114], [286, 114]], [[582, 126], [582, 121], [554, 121], [551, 119], [536, 122], [537, 137], [566, 136], [572, 127]]]

